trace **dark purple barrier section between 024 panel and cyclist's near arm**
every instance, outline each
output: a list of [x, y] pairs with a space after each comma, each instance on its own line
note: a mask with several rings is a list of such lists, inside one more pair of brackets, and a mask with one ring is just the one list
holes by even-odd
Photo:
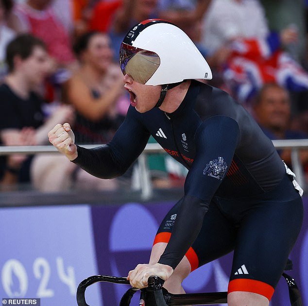
[[[127, 276], [147, 263], [160, 220], [173, 203], [92, 206], [93, 233], [100, 274]], [[104, 305], [118, 305], [127, 285], [102, 284]], [[131, 303], [133, 304], [133, 301]]]

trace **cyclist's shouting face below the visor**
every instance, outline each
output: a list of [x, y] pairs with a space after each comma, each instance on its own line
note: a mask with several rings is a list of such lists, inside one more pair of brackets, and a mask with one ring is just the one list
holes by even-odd
[[129, 74], [125, 74], [123, 80], [125, 82], [124, 87], [130, 95], [131, 105], [139, 113], [145, 113], [156, 105], [160, 97], [161, 86], [137, 83]]

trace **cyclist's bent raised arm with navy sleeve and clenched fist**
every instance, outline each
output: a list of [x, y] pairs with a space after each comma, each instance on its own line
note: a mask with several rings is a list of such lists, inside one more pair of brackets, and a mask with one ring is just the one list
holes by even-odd
[[145, 148], [150, 134], [130, 108], [115, 136], [107, 145], [85, 149], [74, 144], [74, 135], [68, 123], [57, 125], [49, 133], [50, 142], [69, 160], [88, 173], [100, 178], [122, 175]]

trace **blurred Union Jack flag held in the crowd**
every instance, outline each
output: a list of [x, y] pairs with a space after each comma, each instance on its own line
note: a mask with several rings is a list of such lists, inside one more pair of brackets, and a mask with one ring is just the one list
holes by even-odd
[[279, 39], [239, 38], [231, 44], [231, 55], [222, 75], [239, 102], [246, 102], [266, 83], [277, 83], [290, 91], [308, 90], [308, 73], [287, 52]]

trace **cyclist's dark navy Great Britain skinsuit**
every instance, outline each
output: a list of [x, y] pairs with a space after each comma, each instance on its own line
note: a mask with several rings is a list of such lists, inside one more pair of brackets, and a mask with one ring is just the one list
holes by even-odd
[[[198, 266], [235, 249], [230, 279], [274, 288], [300, 231], [303, 207], [256, 121], [227, 93], [192, 81], [175, 112], [154, 108], [141, 114], [130, 106], [113, 140], [91, 150], [78, 147], [74, 162], [98, 177], [119, 176], [150, 135], [188, 169], [185, 195], [158, 231], [173, 231], [159, 263], [174, 269], [191, 246]], [[168, 228], [171, 215], [176, 222]], [[242, 265], [245, 273], [236, 274]]]

